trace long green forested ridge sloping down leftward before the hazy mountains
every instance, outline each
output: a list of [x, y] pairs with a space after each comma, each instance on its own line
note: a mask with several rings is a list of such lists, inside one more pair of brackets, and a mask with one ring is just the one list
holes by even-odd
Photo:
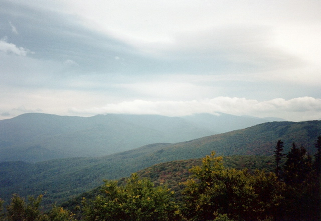
[[45, 203], [61, 202], [102, 184], [156, 163], [217, 155], [273, 154], [278, 139], [286, 153], [291, 143], [304, 145], [310, 154], [321, 134], [321, 121], [267, 122], [245, 129], [179, 143], [155, 143], [103, 157], [62, 158], [48, 161], [1, 162], [0, 198], [14, 192], [22, 196], [43, 194]]

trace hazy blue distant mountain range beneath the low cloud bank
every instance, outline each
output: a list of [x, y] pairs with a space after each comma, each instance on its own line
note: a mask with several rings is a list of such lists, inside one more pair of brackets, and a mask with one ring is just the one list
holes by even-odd
[[221, 114], [186, 117], [26, 113], [0, 120], [0, 161], [103, 156], [157, 142], [181, 142], [266, 122]]

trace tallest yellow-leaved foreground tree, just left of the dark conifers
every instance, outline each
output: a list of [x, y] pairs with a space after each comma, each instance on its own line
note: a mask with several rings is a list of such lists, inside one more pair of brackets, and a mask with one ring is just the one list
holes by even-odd
[[184, 190], [183, 213], [188, 218], [210, 220], [226, 214], [237, 220], [264, 219], [273, 216], [281, 199], [283, 186], [274, 173], [225, 168], [215, 152], [191, 171], [193, 176]]

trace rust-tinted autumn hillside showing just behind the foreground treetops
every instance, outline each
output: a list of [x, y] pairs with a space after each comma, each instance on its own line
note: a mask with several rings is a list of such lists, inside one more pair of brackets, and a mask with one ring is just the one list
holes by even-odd
[[[243, 156], [224, 156], [223, 164], [225, 167], [232, 167], [236, 169], [247, 168], [249, 171], [255, 169], [264, 169], [266, 171], [274, 171], [274, 161], [272, 156], [256, 156], [256, 155], [243, 155]], [[147, 178], [154, 183], [155, 186], [166, 184], [172, 191], [175, 191], [174, 197], [177, 201], [182, 201], [182, 190], [184, 185], [180, 184], [185, 182], [191, 175], [190, 169], [195, 165], [201, 165], [202, 159], [186, 159], [175, 160], [164, 163], [158, 163], [137, 171], [140, 178]], [[126, 178], [121, 178], [118, 185], [125, 185]], [[93, 199], [99, 194], [100, 187], [94, 188], [89, 192], [84, 192], [77, 197], [66, 201], [62, 205], [75, 213], [79, 213], [75, 209], [77, 205], [81, 204], [82, 197], [86, 199]]]

